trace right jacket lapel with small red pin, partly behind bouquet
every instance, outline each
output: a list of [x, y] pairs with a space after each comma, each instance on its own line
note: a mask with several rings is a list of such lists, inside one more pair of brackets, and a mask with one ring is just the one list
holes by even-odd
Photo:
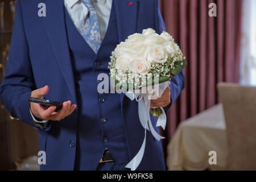
[[[113, 0], [115, 15], [117, 17], [117, 28], [119, 43], [127, 39], [131, 34], [137, 32], [137, 9], [138, 0]], [[125, 94], [121, 93], [121, 106]]]

